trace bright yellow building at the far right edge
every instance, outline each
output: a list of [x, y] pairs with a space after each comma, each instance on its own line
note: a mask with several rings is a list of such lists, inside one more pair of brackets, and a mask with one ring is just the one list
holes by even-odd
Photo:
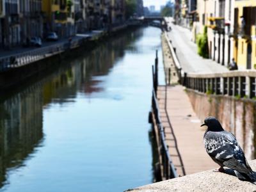
[[234, 58], [239, 69], [256, 69], [256, 1], [235, 1]]

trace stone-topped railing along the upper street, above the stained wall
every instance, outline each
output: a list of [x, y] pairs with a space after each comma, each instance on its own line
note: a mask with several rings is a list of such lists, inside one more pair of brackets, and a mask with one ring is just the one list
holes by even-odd
[[[166, 34], [165, 34], [166, 35]], [[202, 93], [256, 99], [256, 70], [234, 70], [222, 73], [195, 74], [184, 72], [175, 49], [166, 35], [173, 62], [179, 70], [179, 81], [186, 88]]]

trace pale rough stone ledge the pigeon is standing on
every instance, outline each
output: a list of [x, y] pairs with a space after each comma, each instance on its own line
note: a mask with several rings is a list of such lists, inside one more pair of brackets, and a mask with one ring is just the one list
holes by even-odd
[[[253, 170], [256, 170], [256, 160], [248, 163]], [[128, 191], [256, 191], [256, 185], [237, 179], [232, 170], [225, 168], [225, 173], [208, 170], [136, 189], [129, 189]]]

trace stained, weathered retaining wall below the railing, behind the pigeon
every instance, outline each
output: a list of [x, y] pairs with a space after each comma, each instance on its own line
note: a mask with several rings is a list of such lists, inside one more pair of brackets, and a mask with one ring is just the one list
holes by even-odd
[[226, 95], [207, 95], [187, 89], [196, 115], [202, 122], [206, 116], [215, 116], [223, 128], [232, 132], [248, 159], [255, 159], [256, 101], [237, 99]]

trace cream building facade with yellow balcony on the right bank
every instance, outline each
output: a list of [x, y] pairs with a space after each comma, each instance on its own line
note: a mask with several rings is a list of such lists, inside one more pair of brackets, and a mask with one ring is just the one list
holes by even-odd
[[196, 35], [204, 33], [204, 28], [207, 28], [209, 58], [220, 65], [228, 66], [234, 49], [234, 0], [198, 0], [196, 4], [198, 18], [193, 23], [193, 41], [196, 42]]

